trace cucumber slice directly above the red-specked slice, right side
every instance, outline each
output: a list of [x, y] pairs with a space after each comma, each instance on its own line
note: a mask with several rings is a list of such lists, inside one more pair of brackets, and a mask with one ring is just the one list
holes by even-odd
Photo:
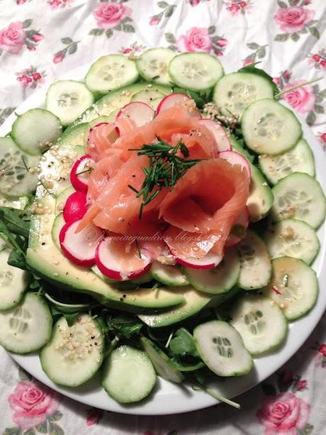
[[320, 248], [315, 230], [296, 219], [284, 219], [271, 224], [264, 240], [272, 259], [288, 256], [310, 264]]

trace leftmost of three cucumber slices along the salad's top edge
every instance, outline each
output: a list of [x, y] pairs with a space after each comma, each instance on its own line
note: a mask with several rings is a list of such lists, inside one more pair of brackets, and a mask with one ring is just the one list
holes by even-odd
[[94, 94], [107, 94], [119, 87], [132, 84], [138, 78], [133, 60], [123, 55], [99, 57], [85, 76], [86, 87]]

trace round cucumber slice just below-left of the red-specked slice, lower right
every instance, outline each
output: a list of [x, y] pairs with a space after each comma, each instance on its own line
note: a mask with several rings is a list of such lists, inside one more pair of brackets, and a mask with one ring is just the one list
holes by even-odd
[[247, 350], [254, 356], [274, 351], [285, 341], [288, 323], [281, 309], [267, 297], [247, 294], [230, 312]]

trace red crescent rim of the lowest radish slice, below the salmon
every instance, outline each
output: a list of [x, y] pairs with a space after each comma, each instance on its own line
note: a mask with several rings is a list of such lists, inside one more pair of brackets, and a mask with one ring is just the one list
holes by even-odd
[[[113, 280], [119, 280], [119, 281], [132, 280], [133, 278], [145, 275], [145, 273], [148, 272], [148, 270], [150, 270], [150, 268], [152, 267], [152, 262], [151, 262], [150, 256], [147, 256], [147, 258], [146, 258], [147, 261], [144, 265], [144, 268], [142, 268], [142, 269], [123, 272], [123, 270], [108, 268], [107, 263], [108, 263], [108, 260], [110, 260], [110, 250], [109, 249], [106, 250], [106, 253], [101, 252], [103, 247], [106, 247], [106, 245], [108, 244], [108, 240], [109, 240], [109, 238], [104, 238], [97, 246], [96, 253], [95, 253], [96, 265], [99, 268], [99, 270], [103, 273], [103, 275], [105, 275], [106, 277], [111, 278]], [[104, 255], [106, 255], [106, 257], [108, 257], [105, 260], [103, 258]], [[116, 263], [116, 266], [118, 266], [117, 260], [112, 259], [111, 267], [114, 265], [114, 263]]]

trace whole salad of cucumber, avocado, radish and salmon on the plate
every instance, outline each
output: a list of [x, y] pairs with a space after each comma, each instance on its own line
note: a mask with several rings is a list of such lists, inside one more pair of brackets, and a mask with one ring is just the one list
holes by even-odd
[[[302, 85], [300, 85], [302, 86]], [[120, 403], [157, 375], [208, 387], [313, 309], [325, 219], [296, 115], [255, 65], [106, 55], [0, 138], [0, 343], [48, 378], [101, 371]]]

